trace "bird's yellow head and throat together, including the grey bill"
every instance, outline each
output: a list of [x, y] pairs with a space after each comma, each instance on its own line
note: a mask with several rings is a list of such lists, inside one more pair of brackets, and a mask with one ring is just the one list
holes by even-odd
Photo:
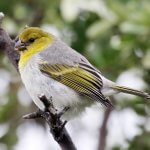
[[36, 53], [43, 51], [54, 41], [54, 36], [38, 27], [27, 27], [18, 36], [15, 48], [20, 52], [19, 68]]

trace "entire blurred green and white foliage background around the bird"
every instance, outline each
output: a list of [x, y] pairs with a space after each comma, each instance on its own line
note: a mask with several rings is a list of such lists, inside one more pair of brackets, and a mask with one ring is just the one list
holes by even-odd
[[[14, 38], [40, 26], [85, 55], [119, 84], [150, 92], [149, 0], [1, 0], [3, 28]], [[150, 150], [150, 102], [114, 96], [115, 110], [88, 108], [67, 129], [78, 150]], [[0, 52], [0, 150], [60, 150], [20, 76]], [[106, 143], [105, 143], [106, 141]]]

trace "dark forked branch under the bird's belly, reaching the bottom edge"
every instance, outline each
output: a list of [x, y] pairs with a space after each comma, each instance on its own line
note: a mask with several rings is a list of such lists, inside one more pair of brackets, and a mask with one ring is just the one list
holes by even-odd
[[39, 99], [43, 102], [46, 109], [44, 111], [38, 110], [37, 112], [25, 115], [23, 118], [43, 118], [48, 123], [50, 132], [62, 150], [76, 150], [75, 145], [65, 129], [67, 121], [63, 122], [60, 119], [69, 108], [65, 107], [61, 112], [58, 112], [53, 106], [52, 99], [48, 100], [44, 95], [40, 96]]

